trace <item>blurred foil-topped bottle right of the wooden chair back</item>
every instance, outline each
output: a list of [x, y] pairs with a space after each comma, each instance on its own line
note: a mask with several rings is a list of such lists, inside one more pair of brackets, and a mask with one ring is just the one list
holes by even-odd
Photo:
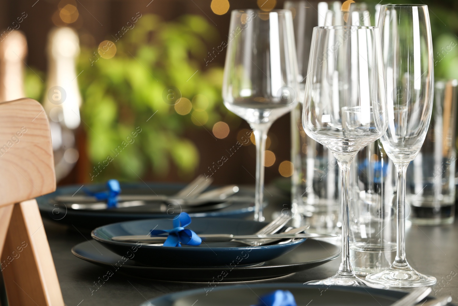
[[81, 120], [81, 95], [75, 69], [80, 46], [76, 31], [67, 27], [52, 29], [47, 52], [48, 79], [43, 106], [50, 118], [55, 172], [59, 181], [71, 171], [79, 157], [75, 144], [75, 129]]

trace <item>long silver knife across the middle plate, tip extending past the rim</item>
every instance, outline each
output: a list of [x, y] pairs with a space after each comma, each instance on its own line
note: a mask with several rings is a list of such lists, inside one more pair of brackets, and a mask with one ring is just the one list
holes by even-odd
[[[265, 234], [265, 235], [233, 235], [233, 234], [200, 234], [203, 241], [231, 241], [234, 239], [289, 239], [289, 238], [330, 238], [337, 237], [335, 234]], [[111, 238], [113, 241], [119, 242], [163, 242], [167, 236], [149, 237], [145, 235], [128, 235], [115, 236]]]

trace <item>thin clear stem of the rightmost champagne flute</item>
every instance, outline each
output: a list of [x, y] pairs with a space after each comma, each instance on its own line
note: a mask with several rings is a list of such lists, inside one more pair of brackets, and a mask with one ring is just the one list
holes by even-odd
[[397, 232], [398, 236], [396, 239], [396, 259], [392, 265], [392, 268], [403, 268], [407, 267], [408, 263], [405, 258], [405, 177], [407, 173], [407, 167], [409, 163], [396, 163], [396, 174], [398, 180], [396, 200], [397, 200], [397, 212], [398, 212], [398, 223]]

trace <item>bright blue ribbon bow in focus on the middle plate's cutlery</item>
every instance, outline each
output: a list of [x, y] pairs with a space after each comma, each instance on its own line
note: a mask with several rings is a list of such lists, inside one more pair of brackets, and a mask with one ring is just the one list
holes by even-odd
[[181, 246], [182, 243], [200, 245], [202, 239], [191, 229], [185, 229], [189, 224], [191, 224], [191, 217], [186, 212], [181, 212], [178, 217], [173, 219], [174, 228], [151, 230], [150, 234], [153, 237], [168, 233], [169, 236], [165, 240], [164, 246]]

